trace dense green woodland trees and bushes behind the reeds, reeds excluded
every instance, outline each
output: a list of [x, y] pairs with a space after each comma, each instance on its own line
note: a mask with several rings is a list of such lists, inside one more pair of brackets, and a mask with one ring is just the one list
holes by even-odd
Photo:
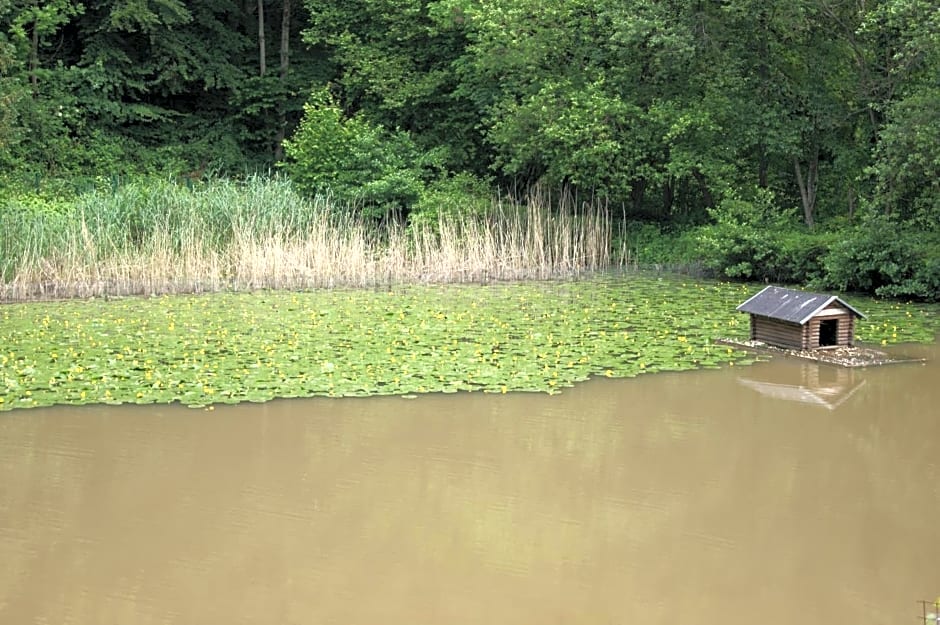
[[931, 0], [5, 0], [0, 187], [282, 162], [427, 223], [541, 186], [667, 260], [937, 299], [938, 76]]

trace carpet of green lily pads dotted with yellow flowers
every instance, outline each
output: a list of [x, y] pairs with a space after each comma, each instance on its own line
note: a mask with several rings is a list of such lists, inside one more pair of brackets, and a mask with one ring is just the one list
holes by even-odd
[[[0, 409], [554, 393], [592, 376], [748, 364], [714, 340], [746, 336], [734, 308], [757, 290], [624, 276], [8, 304]], [[929, 309], [856, 303], [870, 312], [864, 340], [933, 338]]]

